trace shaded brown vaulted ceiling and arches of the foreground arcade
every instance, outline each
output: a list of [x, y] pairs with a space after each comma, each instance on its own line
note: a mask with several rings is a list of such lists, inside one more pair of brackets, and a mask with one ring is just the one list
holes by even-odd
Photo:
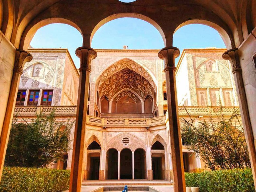
[[[248, 25], [249, 28], [255, 27], [255, 18], [251, 14], [253, 12], [251, 1], [137, 0], [132, 3], [122, 3], [118, 0], [99, 0], [96, 2], [89, 0], [34, 0], [33, 2], [23, 0], [22, 3], [20, 1], [12, 1], [12, 3], [8, 5], [9, 1], [3, 0], [3, 5], [10, 6], [11, 10], [8, 13], [5, 7], [3, 17], [0, 17], [2, 19], [0, 21], [2, 24], [1, 31], [8, 38], [10, 37], [9, 39], [13, 44], [15, 43], [16, 48], [24, 49], [26, 47], [23, 47], [22, 43], [19, 44], [20, 40], [24, 41], [26, 34], [35, 24], [42, 23], [36, 27], [38, 29], [47, 25], [43, 21], [50, 18], [62, 18], [74, 23], [74, 26], [85, 37], [83, 46], [90, 46], [90, 35], [99, 22], [106, 20], [102, 23], [104, 25], [110, 21], [106, 18], [112, 15], [114, 17], [111, 20], [119, 18], [118, 14], [120, 13], [130, 13], [127, 17], [143, 20], [146, 20], [143, 15], [150, 18], [151, 20], [147, 22], [152, 25], [155, 22], [155, 26], [162, 29], [166, 38], [166, 46], [172, 46], [173, 32], [179, 25], [188, 20], [205, 20], [218, 25], [229, 34], [229, 37], [235, 38], [236, 46], [243, 41], [242, 29], [246, 27], [242, 25]], [[248, 16], [248, 14], [250, 15]], [[115, 17], [115, 15], [117, 16]], [[241, 20], [243, 23], [237, 22]], [[58, 23], [57, 20], [55, 22]]]

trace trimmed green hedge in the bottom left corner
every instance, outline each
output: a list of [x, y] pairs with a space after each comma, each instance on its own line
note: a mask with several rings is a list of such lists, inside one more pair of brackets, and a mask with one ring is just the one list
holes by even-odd
[[0, 191], [57, 192], [69, 188], [70, 170], [4, 167]]

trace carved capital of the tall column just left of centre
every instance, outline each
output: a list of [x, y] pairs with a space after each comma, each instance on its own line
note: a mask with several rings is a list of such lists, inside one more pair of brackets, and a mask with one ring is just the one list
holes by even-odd
[[80, 68], [91, 71], [91, 61], [97, 57], [97, 52], [91, 47], [78, 47], [75, 55], [80, 58]]

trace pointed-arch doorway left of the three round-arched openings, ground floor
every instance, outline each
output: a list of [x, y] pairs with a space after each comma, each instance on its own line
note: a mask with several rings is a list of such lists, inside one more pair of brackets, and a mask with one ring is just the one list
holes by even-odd
[[99, 180], [100, 149], [96, 141], [87, 148], [87, 180]]

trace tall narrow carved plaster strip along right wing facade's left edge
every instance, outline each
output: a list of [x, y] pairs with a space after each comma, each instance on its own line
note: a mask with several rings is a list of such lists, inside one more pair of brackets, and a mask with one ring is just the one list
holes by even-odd
[[195, 74], [194, 74], [194, 63], [193, 57], [190, 54], [187, 54], [187, 70], [188, 70], [188, 81], [189, 81], [189, 91], [191, 98], [191, 105], [197, 105], [197, 95], [196, 95], [196, 83], [195, 83]]

